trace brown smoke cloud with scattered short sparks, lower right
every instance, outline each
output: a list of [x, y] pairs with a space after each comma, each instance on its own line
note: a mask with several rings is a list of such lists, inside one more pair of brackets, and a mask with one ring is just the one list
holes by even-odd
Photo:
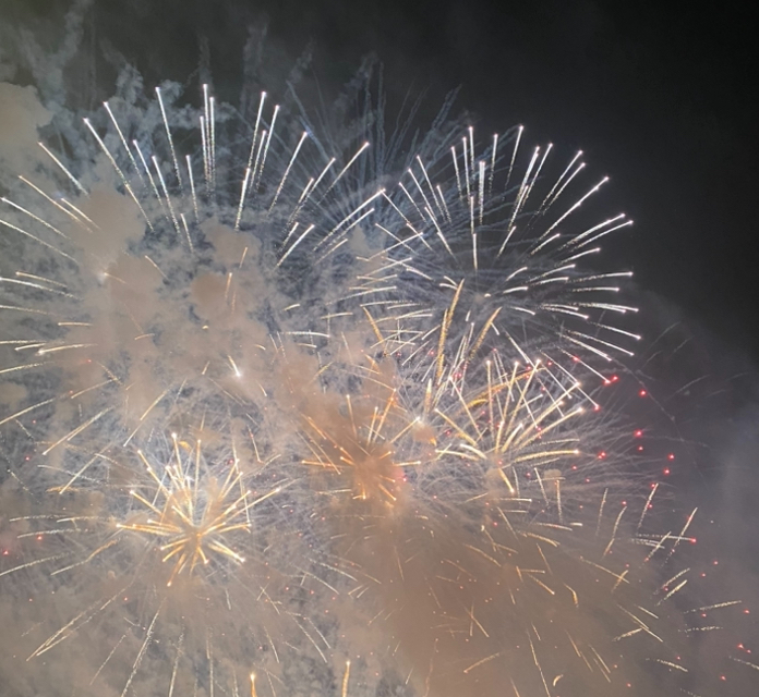
[[688, 670], [677, 610], [639, 595], [653, 572], [635, 542], [607, 561], [580, 521], [525, 524], [525, 502], [511, 505], [493, 506], [482, 531], [421, 506], [393, 519], [360, 502], [341, 510], [335, 553], [407, 671], [434, 660], [431, 694], [495, 694], [506, 680], [521, 694], [546, 681], [569, 695], [627, 681], [646, 693], [651, 671], [636, 656]]

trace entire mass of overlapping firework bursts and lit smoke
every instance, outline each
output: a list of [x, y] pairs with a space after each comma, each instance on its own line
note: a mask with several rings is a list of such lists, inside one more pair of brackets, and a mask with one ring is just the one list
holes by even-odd
[[592, 379], [636, 339], [583, 267], [626, 219], [449, 105], [415, 142], [272, 102], [126, 71], [2, 198], [12, 688], [276, 694], [314, 661], [345, 697], [360, 653], [419, 694], [695, 694], [690, 518], [649, 531]]

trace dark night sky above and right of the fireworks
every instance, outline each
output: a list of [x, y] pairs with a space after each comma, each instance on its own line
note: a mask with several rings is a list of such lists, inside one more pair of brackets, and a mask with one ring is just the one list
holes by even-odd
[[[56, 25], [68, 0], [0, 0], [10, 19]], [[750, 3], [593, 0], [97, 0], [88, 40], [156, 78], [185, 78], [202, 37], [236, 75], [248, 26], [296, 57], [311, 40], [328, 80], [373, 51], [390, 91], [429, 88], [487, 130], [520, 122], [581, 147], [613, 176], [610, 210], [636, 220], [612, 245], [641, 286], [716, 343], [759, 360], [756, 217], [757, 23]], [[60, 26], [60, 23], [58, 23]], [[233, 81], [230, 81], [233, 84]]]

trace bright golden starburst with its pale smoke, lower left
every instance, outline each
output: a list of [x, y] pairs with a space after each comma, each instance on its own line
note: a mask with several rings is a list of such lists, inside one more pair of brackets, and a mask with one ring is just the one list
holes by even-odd
[[[112, 463], [109, 485], [67, 484], [64, 494], [63, 487], [52, 489], [43, 510], [52, 503], [58, 514], [10, 519], [27, 528], [17, 536], [22, 545], [33, 540], [46, 550], [37, 560], [45, 576], [75, 588], [71, 607], [58, 611], [73, 617], [29, 650], [29, 660], [63, 643], [75, 643], [80, 650], [88, 628], [97, 626], [105, 636], [125, 633], [113, 646], [92, 648], [87, 663], [99, 668], [91, 682], [100, 674], [110, 682], [107, 669], [119, 674], [131, 661], [123, 694], [133, 681], [145, 680], [143, 671], [158, 671], [156, 684], [165, 685], [152, 689], [162, 694], [169, 681], [186, 685], [197, 680], [200, 653], [207, 656], [209, 671], [201, 680], [212, 690], [215, 684], [231, 684], [237, 671], [252, 663], [275, 670], [263, 660], [261, 646], [276, 656], [297, 631], [284, 610], [289, 576], [275, 563], [292, 553], [292, 545], [281, 534], [269, 539], [280, 515], [272, 504], [288, 482], [262, 490], [269, 486], [268, 476], [245, 474], [233, 457], [209, 463], [200, 443], [176, 436], [165, 448], [154, 444], [152, 453], [135, 453], [137, 466]], [[2, 575], [13, 578], [29, 565], [22, 562]], [[53, 610], [52, 598], [38, 596], [40, 608]], [[76, 612], [82, 602], [86, 607]], [[25, 644], [44, 637], [55, 614], [34, 627]], [[133, 622], [124, 624], [124, 614]], [[224, 635], [233, 636], [233, 643]], [[214, 650], [207, 648], [208, 637], [215, 637]], [[179, 675], [176, 667], [171, 673], [155, 664], [165, 659], [156, 649], [161, 645], [177, 647]]]

